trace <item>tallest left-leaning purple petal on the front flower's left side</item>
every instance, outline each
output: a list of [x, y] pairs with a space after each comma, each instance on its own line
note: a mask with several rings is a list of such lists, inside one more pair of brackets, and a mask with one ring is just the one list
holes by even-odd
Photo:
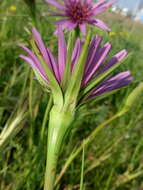
[[35, 42], [40, 50], [41, 55], [44, 58], [45, 63], [48, 65], [48, 67], [52, 70], [52, 66], [50, 63], [49, 56], [47, 54], [47, 49], [42, 41], [41, 35], [39, 32], [36, 30], [36, 28], [32, 28], [32, 34], [34, 36]]

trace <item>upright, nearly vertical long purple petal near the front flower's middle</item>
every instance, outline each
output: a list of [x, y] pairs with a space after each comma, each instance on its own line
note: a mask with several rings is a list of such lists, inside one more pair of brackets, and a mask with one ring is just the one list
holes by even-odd
[[61, 30], [61, 27], [58, 28], [58, 66], [59, 66], [59, 73], [60, 73], [60, 80], [62, 79], [65, 64], [66, 64], [66, 56], [67, 56], [67, 48], [66, 42], [64, 38], [64, 33]]

